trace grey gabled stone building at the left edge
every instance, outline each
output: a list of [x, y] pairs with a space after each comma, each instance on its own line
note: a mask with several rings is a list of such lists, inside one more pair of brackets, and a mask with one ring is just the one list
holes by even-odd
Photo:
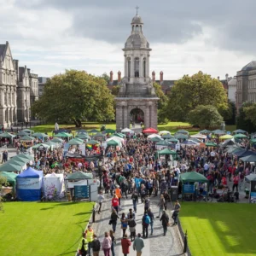
[[38, 99], [38, 75], [19, 67], [9, 43], [0, 44], [0, 125], [29, 122], [31, 102]]

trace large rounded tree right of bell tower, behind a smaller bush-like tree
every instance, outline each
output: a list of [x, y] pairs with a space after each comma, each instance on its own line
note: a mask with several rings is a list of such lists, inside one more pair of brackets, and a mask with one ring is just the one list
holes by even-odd
[[189, 112], [200, 105], [211, 105], [219, 111], [228, 108], [223, 84], [202, 72], [177, 80], [169, 93], [166, 113], [169, 119], [186, 121]]

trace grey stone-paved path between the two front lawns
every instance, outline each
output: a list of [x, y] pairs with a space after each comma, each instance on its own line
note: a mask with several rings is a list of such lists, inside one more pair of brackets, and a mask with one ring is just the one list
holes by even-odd
[[[96, 235], [99, 236], [100, 241], [102, 241], [104, 232], [109, 231], [112, 229], [112, 226], [108, 224], [108, 221], [110, 219], [110, 209], [111, 209], [111, 198], [107, 195], [105, 195], [105, 202], [102, 205], [102, 213], [97, 214], [96, 213], [96, 223], [93, 224], [93, 229], [96, 232]], [[144, 256], [153, 256], [156, 253], [158, 253], [161, 256], [174, 256], [174, 255], [183, 255], [183, 247], [180, 241], [180, 236], [177, 230], [177, 226], [175, 227], [168, 227], [168, 231], [166, 236], [163, 236], [163, 229], [162, 225], [160, 223], [159, 218], [156, 218], [158, 216], [158, 207], [157, 207], [157, 198], [150, 198], [151, 200], [151, 208], [154, 212], [154, 232], [153, 235], [150, 236], [150, 226], [148, 227], [148, 239], [144, 239], [145, 247], [143, 248], [143, 255]], [[140, 202], [140, 200], [139, 200]], [[129, 195], [128, 200], [122, 200], [122, 211], [119, 212], [119, 217], [122, 212], [125, 212], [127, 214], [129, 212], [129, 208], [132, 208], [132, 202], [131, 202], [131, 195]], [[169, 205], [168, 207], [168, 215], [170, 217], [171, 223], [172, 223], [172, 214], [171, 214], [171, 207]], [[137, 205], [137, 213], [136, 213], [136, 221], [137, 221], [137, 233], [143, 233], [142, 228], [142, 218], [143, 218], [143, 204], [140, 202]], [[127, 230], [127, 234], [130, 236], [129, 230]], [[122, 256], [122, 248], [120, 246], [121, 236], [122, 236], [122, 230], [120, 229], [120, 223], [117, 225], [116, 230], [116, 247], [115, 247], [115, 255], [116, 256]], [[102, 256], [103, 253], [100, 253], [100, 256]], [[135, 256], [136, 252], [133, 251], [132, 244], [130, 247], [130, 253], [129, 256]]]

